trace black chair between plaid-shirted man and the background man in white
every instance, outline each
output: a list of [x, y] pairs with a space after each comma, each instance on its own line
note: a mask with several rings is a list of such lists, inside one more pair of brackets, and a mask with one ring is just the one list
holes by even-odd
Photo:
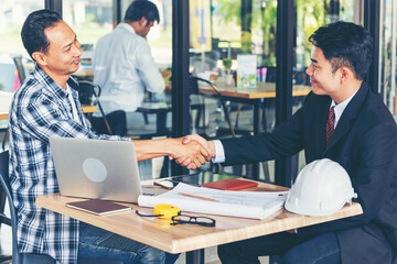
[[[103, 107], [100, 106], [99, 102], [99, 97], [100, 97], [100, 87], [92, 81], [88, 80], [81, 80], [78, 81], [78, 99], [81, 101], [82, 105], [88, 105], [88, 106], [97, 106], [99, 108], [103, 121], [105, 123], [106, 130], [108, 132], [108, 134], [112, 134], [111, 133], [111, 129], [110, 125], [106, 119], [106, 114], [104, 112]], [[88, 120], [90, 120], [93, 113], [88, 113], [87, 118]], [[94, 124], [93, 124], [94, 125]], [[95, 128], [94, 128], [95, 129]]]

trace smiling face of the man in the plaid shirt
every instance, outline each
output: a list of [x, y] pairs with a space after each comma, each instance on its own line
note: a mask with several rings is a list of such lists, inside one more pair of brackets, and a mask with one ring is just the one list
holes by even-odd
[[79, 66], [81, 44], [76, 34], [64, 21], [44, 31], [50, 45], [45, 58], [45, 67], [54, 75], [69, 75]]

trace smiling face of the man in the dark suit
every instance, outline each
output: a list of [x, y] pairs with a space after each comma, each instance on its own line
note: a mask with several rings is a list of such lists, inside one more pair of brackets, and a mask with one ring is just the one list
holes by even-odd
[[326, 95], [334, 98], [340, 89], [340, 69], [332, 73], [331, 63], [325, 58], [321, 48], [313, 46], [311, 61], [307, 74], [310, 76], [310, 82], [315, 95]]

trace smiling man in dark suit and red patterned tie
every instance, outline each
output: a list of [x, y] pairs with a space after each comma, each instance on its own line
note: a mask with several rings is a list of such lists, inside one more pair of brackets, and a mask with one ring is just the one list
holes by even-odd
[[[364, 81], [372, 37], [360, 25], [336, 22], [318, 29], [309, 40], [313, 48], [307, 74], [313, 90], [303, 106], [272, 133], [210, 142], [215, 162], [262, 162], [301, 150], [307, 163], [331, 158], [348, 173], [358, 195], [354, 201], [364, 213], [221, 245], [219, 258], [242, 264], [259, 263], [260, 255], [279, 255], [282, 263], [293, 264], [395, 264], [397, 125]], [[185, 142], [191, 140], [203, 141], [197, 135], [185, 138]]]

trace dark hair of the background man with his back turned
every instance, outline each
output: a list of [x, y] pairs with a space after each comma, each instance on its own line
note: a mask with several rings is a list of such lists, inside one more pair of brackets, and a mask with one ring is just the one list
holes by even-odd
[[128, 7], [125, 15], [125, 21], [139, 21], [146, 18], [148, 24], [152, 21], [160, 22], [159, 10], [154, 3], [148, 0], [135, 0]]

